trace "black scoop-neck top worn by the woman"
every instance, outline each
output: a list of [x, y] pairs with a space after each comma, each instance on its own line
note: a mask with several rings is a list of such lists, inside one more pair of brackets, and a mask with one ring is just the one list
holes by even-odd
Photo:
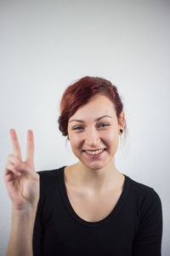
[[161, 256], [161, 200], [154, 189], [123, 174], [122, 194], [112, 212], [88, 222], [71, 207], [64, 168], [37, 172], [34, 256]]

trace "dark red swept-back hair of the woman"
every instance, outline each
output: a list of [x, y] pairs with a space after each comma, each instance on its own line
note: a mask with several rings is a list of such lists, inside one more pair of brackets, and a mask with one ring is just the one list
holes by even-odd
[[[117, 92], [115, 85], [111, 84], [110, 81], [99, 77], [84, 77], [79, 79], [75, 84], [71, 84], [65, 90], [61, 102], [60, 102], [60, 116], [58, 119], [59, 130], [63, 136], [68, 135], [67, 126], [68, 120], [71, 116], [77, 112], [78, 108], [88, 103], [89, 99], [95, 95], [108, 96], [111, 102], [114, 103], [116, 108], [117, 119], [120, 118], [122, 113], [123, 104], [121, 97]], [[123, 120], [125, 121], [125, 120]], [[126, 125], [124, 126], [124, 131]]]

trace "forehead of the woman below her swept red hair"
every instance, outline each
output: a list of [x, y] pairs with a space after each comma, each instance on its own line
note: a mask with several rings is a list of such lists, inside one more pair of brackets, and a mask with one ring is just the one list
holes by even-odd
[[70, 119], [96, 119], [102, 115], [115, 116], [116, 110], [108, 96], [97, 95], [93, 96], [82, 108], [78, 108]]

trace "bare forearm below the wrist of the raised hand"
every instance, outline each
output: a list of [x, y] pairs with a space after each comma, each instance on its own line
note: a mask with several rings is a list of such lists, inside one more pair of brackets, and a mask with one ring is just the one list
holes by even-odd
[[12, 209], [12, 225], [6, 256], [33, 256], [32, 234], [36, 217], [35, 211]]

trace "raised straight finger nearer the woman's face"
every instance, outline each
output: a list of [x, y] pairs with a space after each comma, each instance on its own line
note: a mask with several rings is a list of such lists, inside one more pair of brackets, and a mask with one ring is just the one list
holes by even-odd
[[34, 164], [34, 136], [31, 130], [27, 133], [26, 162]]

